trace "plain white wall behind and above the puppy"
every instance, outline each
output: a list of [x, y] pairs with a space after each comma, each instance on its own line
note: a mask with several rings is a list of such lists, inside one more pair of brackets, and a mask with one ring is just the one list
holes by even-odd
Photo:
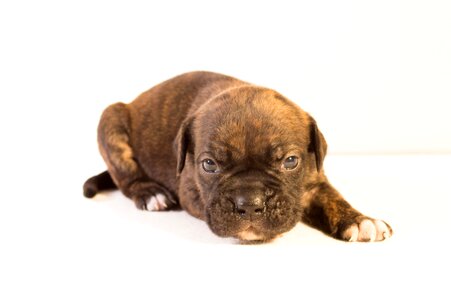
[[332, 152], [449, 153], [450, 15], [447, 0], [2, 1], [0, 99], [94, 120], [204, 69], [298, 102]]

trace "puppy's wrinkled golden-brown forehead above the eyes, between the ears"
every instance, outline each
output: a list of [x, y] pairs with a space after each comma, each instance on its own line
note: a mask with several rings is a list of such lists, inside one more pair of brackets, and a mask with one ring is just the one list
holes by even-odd
[[281, 159], [306, 149], [306, 114], [273, 91], [227, 95], [201, 114], [198, 151], [213, 151], [218, 160], [270, 156]]

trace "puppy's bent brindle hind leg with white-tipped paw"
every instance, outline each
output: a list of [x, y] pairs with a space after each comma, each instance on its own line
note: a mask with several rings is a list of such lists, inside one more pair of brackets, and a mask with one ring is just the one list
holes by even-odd
[[108, 172], [137, 208], [168, 210], [177, 204], [176, 198], [165, 186], [149, 178], [135, 159], [130, 144], [130, 121], [130, 112], [124, 103], [113, 104], [102, 114], [98, 142]]

